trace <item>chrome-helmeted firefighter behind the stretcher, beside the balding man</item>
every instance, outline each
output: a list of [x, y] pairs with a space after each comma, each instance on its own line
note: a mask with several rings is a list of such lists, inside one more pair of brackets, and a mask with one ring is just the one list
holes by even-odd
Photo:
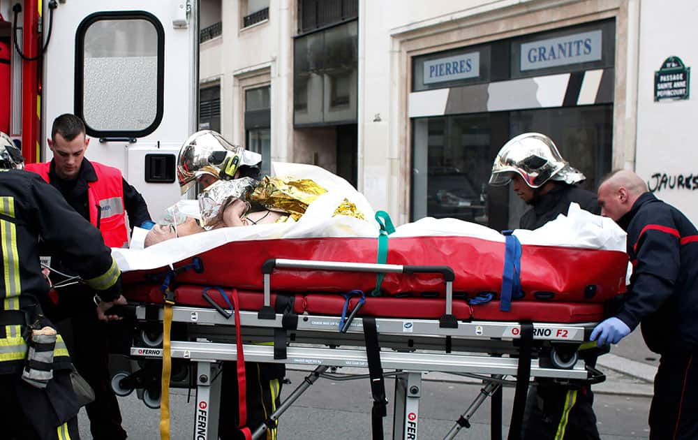
[[[514, 192], [531, 205], [519, 220], [519, 228], [536, 229], [559, 214], [567, 215], [570, 203], [578, 203], [593, 214], [600, 213], [596, 195], [577, 186], [584, 179], [584, 174], [560, 156], [550, 138], [540, 133], [524, 133], [500, 149], [489, 183], [505, 185], [512, 182]], [[596, 356], [587, 355], [584, 359], [589, 365], [596, 363]], [[537, 382], [537, 386], [530, 387], [526, 400], [523, 439], [600, 438], [590, 387], [572, 390], [540, 378]]]

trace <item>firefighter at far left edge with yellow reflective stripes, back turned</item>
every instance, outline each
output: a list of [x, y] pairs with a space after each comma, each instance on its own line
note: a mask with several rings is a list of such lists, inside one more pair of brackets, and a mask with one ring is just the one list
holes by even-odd
[[[49, 286], [38, 242], [61, 249], [70, 269], [98, 291], [96, 314], [125, 304], [121, 272], [99, 231], [38, 175], [19, 170], [22, 154], [0, 133], [0, 429], [10, 440], [79, 439], [77, 396], [66, 345], [43, 315]], [[116, 301], [114, 301], [116, 300]], [[85, 302], [95, 310], [93, 298]]]

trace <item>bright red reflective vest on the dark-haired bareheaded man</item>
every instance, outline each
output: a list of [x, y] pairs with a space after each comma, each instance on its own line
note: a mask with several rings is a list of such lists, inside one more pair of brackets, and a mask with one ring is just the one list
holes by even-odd
[[[128, 244], [126, 210], [124, 209], [124, 181], [118, 168], [90, 161], [97, 175], [95, 182], [87, 182], [89, 221], [98, 227], [109, 247]], [[28, 163], [24, 169], [43, 177], [50, 183], [50, 162]]]

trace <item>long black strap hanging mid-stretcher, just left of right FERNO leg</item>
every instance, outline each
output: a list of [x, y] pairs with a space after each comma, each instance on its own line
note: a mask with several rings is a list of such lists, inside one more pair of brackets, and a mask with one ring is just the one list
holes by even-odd
[[369, 362], [371, 394], [373, 395], [371, 432], [373, 432], [373, 440], [383, 440], [383, 418], [387, 416], [388, 401], [385, 398], [383, 367], [380, 366], [380, 346], [378, 345], [376, 318], [364, 316], [363, 321], [364, 340], [366, 341], [366, 360]]

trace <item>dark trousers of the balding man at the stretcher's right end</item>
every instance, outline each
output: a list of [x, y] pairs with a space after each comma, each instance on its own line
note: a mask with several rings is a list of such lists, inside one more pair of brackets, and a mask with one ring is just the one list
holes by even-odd
[[651, 440], [698, 439], [698, 351], [662, 354], [649, 423]]

